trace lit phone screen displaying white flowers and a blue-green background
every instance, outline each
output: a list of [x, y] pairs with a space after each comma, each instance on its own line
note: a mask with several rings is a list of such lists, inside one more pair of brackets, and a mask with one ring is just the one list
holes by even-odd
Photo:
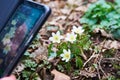
[[0, 76], [17, 55], [18, 48], [28, 39], [42, 8], [21, 4], [0, 32]]

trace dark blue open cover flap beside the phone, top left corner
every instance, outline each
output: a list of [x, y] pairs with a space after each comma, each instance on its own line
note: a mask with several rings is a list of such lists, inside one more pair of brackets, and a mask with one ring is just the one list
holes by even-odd
[[0, 0], [0, 31], [18, 4], [24, 0]]

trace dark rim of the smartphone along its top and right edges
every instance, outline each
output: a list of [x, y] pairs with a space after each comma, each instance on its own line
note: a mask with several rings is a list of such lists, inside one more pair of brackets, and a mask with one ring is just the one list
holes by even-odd
[[[22, 3], [22, 2], [21, 2]], [[19, 3], [19, 5], [21, 4]], [[49, 7], [47, 7], [46, 5], [37, 3], [37, 2], [33, 2], [33, 1], [29, 1], [29, 0], [25, 0], [24, 3], [29, 3], [31, 5], [34, 6], [41, 6], [44, 7], [45, 9], [45, 13], [42, 16], [42, 18], [40, 18], [33, 29], [32, 34], [29, 36], [29, 39], [27, 40], [27, 42], [24, 43], [24, 45], [20, 46], [20, 48], [17, 51], [17, 55], [14, 59], [12, 64], [8, 65], [7, 69], [5, 70], [5, 72], [3, 73], [3, 75], [1, 77], [4, 76], [9, 76], [11, 74], [11, 72], [13, 71], [13, 69], [16, 67], [17, 63], [19, 62], [19, 60], [21, 59], [21, 57], [23, 56], [24, 52], [26, 51], [26, 49], [28, 48], [28, 46], [30, 45], [30, 43], [32, 42], [33, 38], [35, 38], [35, 36], [37, 35], [37, 33], [39, 32], [39, 30], [41, 29], [42, 25], [45, 23], [45, 21], [47, 20], [47, 18], [49, 17], [50, 13], [51, 13], [51, 9]]]

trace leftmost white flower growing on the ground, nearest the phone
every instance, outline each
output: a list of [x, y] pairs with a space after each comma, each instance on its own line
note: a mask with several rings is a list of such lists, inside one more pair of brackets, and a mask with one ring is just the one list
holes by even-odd
[[63, 36], [60, 35], [59, 31], [56, 34], [52, 33], [52, 37], [49, 38], [53, 43], [60, 43], [61, 39], [63, 39]]

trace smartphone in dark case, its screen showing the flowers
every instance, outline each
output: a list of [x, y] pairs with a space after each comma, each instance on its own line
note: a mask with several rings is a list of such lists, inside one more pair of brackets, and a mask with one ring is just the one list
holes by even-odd
[[0, 31], [0, 77], [11, 74], [51, 13], [46, 5], [21, 2]]

